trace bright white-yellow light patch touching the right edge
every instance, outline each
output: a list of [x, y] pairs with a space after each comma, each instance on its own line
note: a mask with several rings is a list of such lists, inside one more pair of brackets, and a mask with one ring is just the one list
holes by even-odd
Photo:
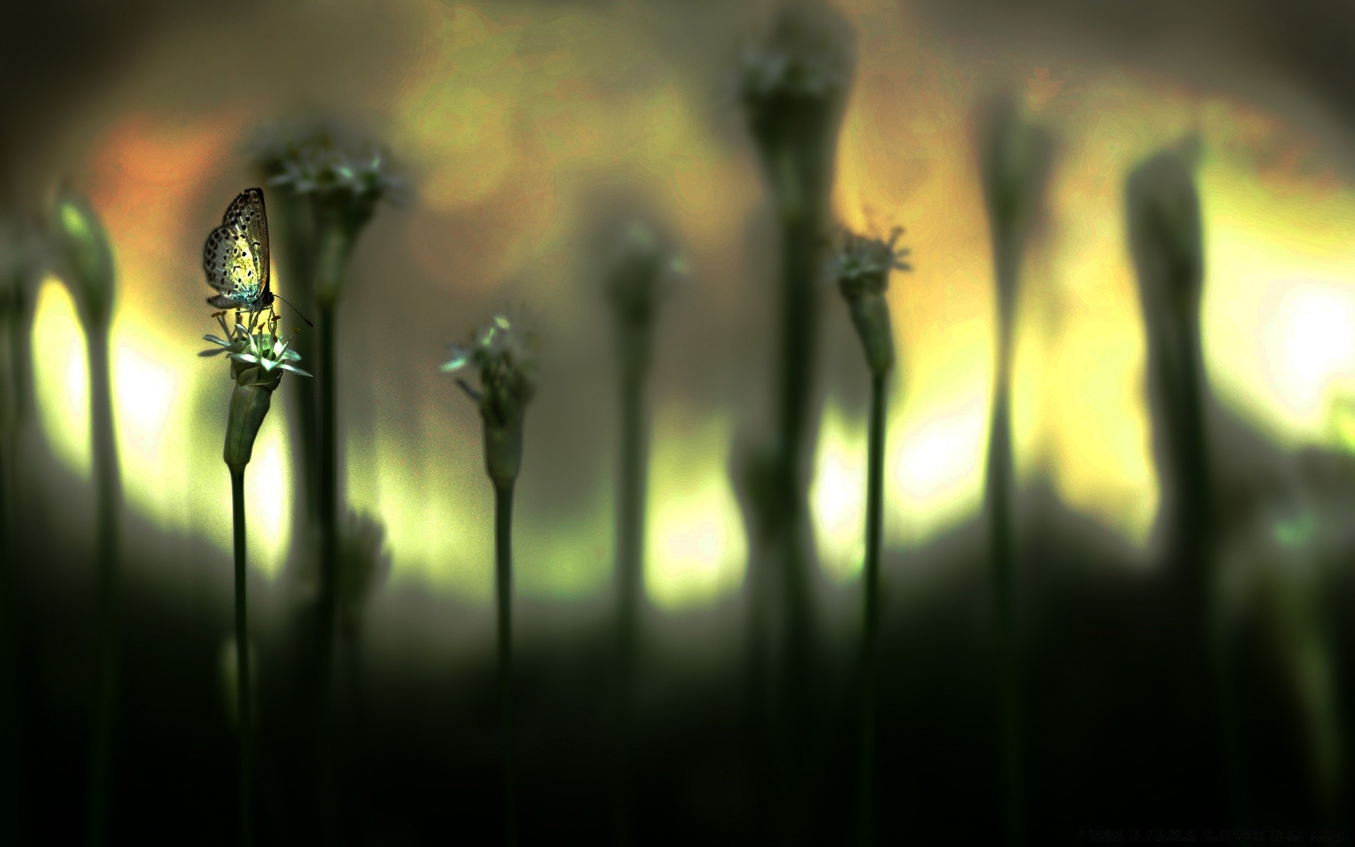
[[1278, 191], [1215, 161], [1202, 173], [1210, 382], [1286, 445], [1336, 440], [1355, 377], [1355, 192]]

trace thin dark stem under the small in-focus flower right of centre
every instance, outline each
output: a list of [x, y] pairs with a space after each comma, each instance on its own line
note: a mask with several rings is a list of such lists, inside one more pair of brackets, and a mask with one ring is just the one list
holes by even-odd
[[875, 676], [879, 652], [879, 545], [885, 514], [885, 401], [888, 373], [871, 375], [866, 455], [866, 632], [862, 638], [860, 843], [875, 843]]

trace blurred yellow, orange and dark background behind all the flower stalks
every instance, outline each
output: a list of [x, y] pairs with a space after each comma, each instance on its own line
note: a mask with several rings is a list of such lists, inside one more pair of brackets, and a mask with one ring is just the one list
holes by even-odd
[[[982, 515], [997, 317], [973, 131], [976, 108], [1001, 89], [1057, 140], [1023, 260], [1012, 374], [1030, 843], [1348, 827], [1355, 9], [829, 5], [855, 41], [831, 220], [871, 234], [904, 226], [913, 266], [889, 290], [898, 366], [879, 840], [1005, 838]], [[230, 199], [262, 183], [260, 138], [313, 117], [379, 141], [408, 186], [363, 232], [337, 309], [341, 501], [379, 522], [389, 576], [363, 613], [360, 697], [343, 710], [336, 753], [341, 800], [327, 805], [328, 789], [297, 766], [310, 755], [295, 741], [306, 717], [287, 695], [293, 611], [314, 591], [298, 553], [289, 377], [247, 476], [260, 840], [321, 843], [317, 814], [337, 816], [346, 843], [497, 839], [492, 489], [480, 416], [438, 365], [447, 343], [519, 305], [542, 339], [515, 514], [520, 835], [614, 838], [618, 401], [596, 244], [623, 214], [664, 232], [686, 268], [663, 301], [648, 388], [630, 835], [779, 840], [764, 838], [745, 744], [757, 720], [744, 648], [751, 542], [730, 474], [775, 401], [776, 215], [736, 75], [741, 46], [776, 11], [770, 0], [60, 0], [0, 12], [0, 215], [37, 220], [64, 180], [102, 217], [117, 267], [112, 843], [236, 838], [222, 683], [229, 382], [225, 365], [195, 355], [215, 329], [201, 251]], [[1244, 739], [1226, 775], [1182, 753], [1199, 725], [1180, 718], [1176, 636], [1163, 623], [1164, 496], [1126, 240], [1127, 173], [1188, 133], [1202, 142], [1217, 591]], [[274, 290], [286, 297], [285, 249], [275, 229]], [[66, 843], [84, 832], [95, 661], [89, 374], [66, 286], [35, 274], [27, 302], [28, 323], [5, 329], [19, 333], [5, 365], [27, 351], [31, 366], [9, 382], [16, 408], [30, 407], [14, 417], [5, 469], [16, 539], [5, 814], [23, 843]], [[809, 484], [821, 695], [801, 836], [841, 843], [856, 838], [869, 378], [827, 283], [821, 321]]]

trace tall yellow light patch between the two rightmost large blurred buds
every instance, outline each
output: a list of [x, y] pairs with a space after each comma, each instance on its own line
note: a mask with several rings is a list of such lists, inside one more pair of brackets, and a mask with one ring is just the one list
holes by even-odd
[[1159, 141], [1146, 122], [1123, 115], [1079, 114], [1075, 126], [1080, 141], [1066, 152], [1050, 192], [1057, 221], [1051, 270], [1031, 278], [1041, 302], [1030, 305], [1047, 340], [1039, 400], [1043, 449], [1064, 503], [1142, 546], [1160, 497], [1123, 184]]

